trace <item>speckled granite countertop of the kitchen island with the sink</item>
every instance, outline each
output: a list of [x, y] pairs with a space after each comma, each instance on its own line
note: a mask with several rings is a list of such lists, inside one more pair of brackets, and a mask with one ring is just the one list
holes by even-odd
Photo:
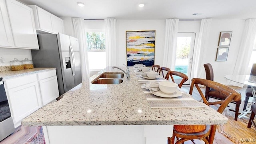
[[[124, 70], [125, 68], [122, 67]], [[82, 82], [64, 97], [22, 121], [26, 126], [68, 125], [166, 125], [224, 124], [228, 119], [210, 107], [150, 108], [136, 74], [121, 84], [91, 84], [102, 72], [121, 72], [107, 67]]]

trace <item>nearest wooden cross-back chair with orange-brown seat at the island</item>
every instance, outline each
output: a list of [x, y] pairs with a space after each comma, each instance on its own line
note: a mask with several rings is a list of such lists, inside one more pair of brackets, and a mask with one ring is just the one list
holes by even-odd
[[[209, 88], [214, 88], [217, 92], [220, 92], [226, 96], [224, 100], [221, 102], [208, 102], [206, 100], [206, 97], [204, 96], [201, 86], [207, 86]], [[196, 89], [198, 90], [200, 96], [202, 97], [202, 100], [204, 104], [210, 106], [212, 104], [220, 104], [218, 108], [218, 112], [222, 113], [226, 106], [228, 104], [236, 99], [237, 97], [241, 97], [240, 93], [236, 90], [225, 86], [223, 84], [211, 81], [211, 80], [205, 80], [201, 78], [193, 78], [192, 83], [190, 86], [189, 94], [192, 95], [194, 86], [196, 86]], [[181, 144], [187, 140], [203, 140], [206, 144], [212, 144], [214, 141], [214, 136], [216, 132], [217, 125], [174, 125], [173, 128], [173, 134], [172, 138], [168, 138], [168, 144], [174, 144], [175, 137], [177, 138], [177, 141], [175, 144]]]

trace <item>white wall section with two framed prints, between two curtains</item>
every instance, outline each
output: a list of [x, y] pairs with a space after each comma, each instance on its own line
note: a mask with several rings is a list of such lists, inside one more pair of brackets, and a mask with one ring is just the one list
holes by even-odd
[[[212, 20], [208, 48], [206, 48], [206, 57], [203, 62], [204, 64], [212, 64], [214, 69], [214, 81], [228, 84], [224, 76], [233, 74], [243, 29], [244, 20]], [[229, 47], [228, 58], [227, 61], [216, 62], [217, 48], [221, 47], [218, 46], [220, 32], [224, 31], [232, 31], [230, 46], [222, 46]], [[205, 76], [205, 73], [203, 74]]]

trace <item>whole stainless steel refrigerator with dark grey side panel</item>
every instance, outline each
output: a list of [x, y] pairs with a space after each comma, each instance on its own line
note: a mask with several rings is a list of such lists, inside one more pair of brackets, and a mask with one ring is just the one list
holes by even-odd
[[38, 34], [31, 50], [35, 68], [56, 68], [60, 95], [82, 82], [78, 39], [65, 34]]

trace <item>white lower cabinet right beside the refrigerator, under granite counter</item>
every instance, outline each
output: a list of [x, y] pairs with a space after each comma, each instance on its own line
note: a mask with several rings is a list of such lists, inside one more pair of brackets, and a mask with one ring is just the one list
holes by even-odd
[[56, 70], [39, 73], [38, 80], [43, 105], [56, 101], [59, 96]]

